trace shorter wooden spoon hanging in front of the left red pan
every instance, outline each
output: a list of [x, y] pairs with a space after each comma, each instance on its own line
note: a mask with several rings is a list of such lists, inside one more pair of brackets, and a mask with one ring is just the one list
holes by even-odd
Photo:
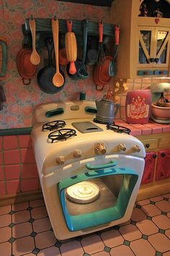
[[32, 33], [32, 54], [30, 56], [30, 61], [33, 65], [37, 65], [40, 63], [40, 56], [37, 54], [35, 48], [35, 20], [33, 18], [30, 18], [29, 25]]

